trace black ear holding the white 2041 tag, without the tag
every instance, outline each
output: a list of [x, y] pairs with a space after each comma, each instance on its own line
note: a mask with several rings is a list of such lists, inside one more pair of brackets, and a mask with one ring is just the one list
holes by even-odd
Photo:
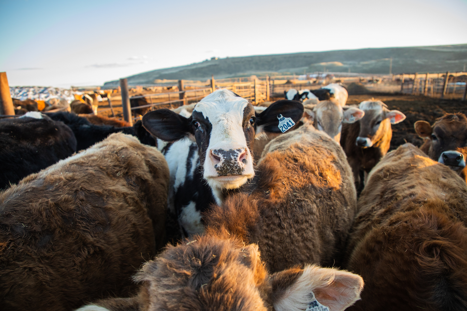
[[256, 125], [263, 125], [264, 131], [280, 133], [279, 115], [290, 117], [297, 123], [303, 116], [303, 104], [295, 100], [278, 100], [256, 117]]

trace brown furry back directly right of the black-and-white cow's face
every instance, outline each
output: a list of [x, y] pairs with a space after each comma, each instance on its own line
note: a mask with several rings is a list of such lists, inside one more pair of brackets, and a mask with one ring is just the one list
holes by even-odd
[[352, 173], [340, 146], [304, 125], [272, 140], [257, 172], [244, 194], [231, 195], [205, 215], [206, 232], [257, 243], [272, 272], [339, 264], [356, 212]]

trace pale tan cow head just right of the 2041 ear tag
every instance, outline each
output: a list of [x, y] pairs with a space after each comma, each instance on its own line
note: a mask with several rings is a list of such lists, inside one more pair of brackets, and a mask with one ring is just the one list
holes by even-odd
[[332, 99], [319, 102], [311, 113], [307, 110], [307, 114], [313, 119], [316, 129], [324, 131], [339, 144], [342, 124], [360, 120], [365, 112], [357, 107], [342, 107]]

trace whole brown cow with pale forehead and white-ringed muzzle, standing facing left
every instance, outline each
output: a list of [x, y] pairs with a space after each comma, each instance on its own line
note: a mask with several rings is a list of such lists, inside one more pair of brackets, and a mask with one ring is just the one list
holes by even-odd
[[382, 101], [363, 101], [359, 108], [365, 111], [365, 115], [358, 122], [342, 126], [340, 145], [354, 172], [358, 194], [365, 184], [364, 176], [389, 150], [392, 138], [391, 124], [397, 124], [405, 119], [402, 112], [389, 111], [387, 107]]

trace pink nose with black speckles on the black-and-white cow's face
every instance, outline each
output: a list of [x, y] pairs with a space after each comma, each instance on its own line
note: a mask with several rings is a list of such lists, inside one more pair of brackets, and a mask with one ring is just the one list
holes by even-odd
[[210, 152], [212, 164], [219, 176], [241, 175], [247, 164], [246, 149], [215, 149]]

